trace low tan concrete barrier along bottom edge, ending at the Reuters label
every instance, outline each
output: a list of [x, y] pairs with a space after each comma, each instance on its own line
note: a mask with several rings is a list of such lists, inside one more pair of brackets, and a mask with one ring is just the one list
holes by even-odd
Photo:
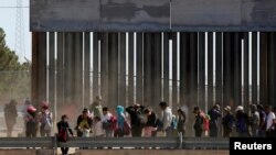
[[227, 150], [78, 150], [75, 155], [229, 155]]

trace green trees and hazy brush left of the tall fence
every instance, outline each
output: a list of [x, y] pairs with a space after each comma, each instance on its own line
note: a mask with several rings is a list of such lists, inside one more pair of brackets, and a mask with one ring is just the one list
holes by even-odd
[[30, 97], [30, 62], [21, 64], [15, 52], [7, 46], [4, 31], [0, 27], [0, 101]]

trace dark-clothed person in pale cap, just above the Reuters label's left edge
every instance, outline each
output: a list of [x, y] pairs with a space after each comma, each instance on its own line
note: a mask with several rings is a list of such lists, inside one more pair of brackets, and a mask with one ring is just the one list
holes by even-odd
[[224, 117], [222, 118], [222, 125], [223, 125], [223, 137], [230, 137], [231, 133], [233, 131], [233, 126], [234, 126], [234, 115], [231, 112], [231, 107], [226, 106], [224, 108]]

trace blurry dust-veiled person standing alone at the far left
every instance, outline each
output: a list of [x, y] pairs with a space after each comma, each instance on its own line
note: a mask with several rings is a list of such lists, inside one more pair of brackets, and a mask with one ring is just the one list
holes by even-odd
[[7, 125], [7, 136], [12, 136], [13, 126], [17, 123], [18, 118], [18, 110], [17, 110], [18, 102], [15, 100], [11, 100], [8, 104], [4, 106], [4, 120]]

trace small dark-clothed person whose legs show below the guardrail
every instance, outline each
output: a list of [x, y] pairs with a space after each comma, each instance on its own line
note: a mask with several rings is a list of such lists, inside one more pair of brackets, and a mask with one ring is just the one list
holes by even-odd
[[[57, 132], [61, 133], [63, 132], [63, 130], [65, 130], [65, 133], [66, 133], [66, 137], [68, 136], [68, 132], [72, 136], [74, 136], [74, 133], [72, 131], [72, 129], [70, 128], [70, 124], [68, 124], [68, 117], [66, 114], [62, 115], [62, 119], [61, 121], [56, 124], [57, 126]], [[62, 151], [62, 154], [63, 155], [67, 155], [68, 153], [68, 147], [61, 147], [61, 151]]]

